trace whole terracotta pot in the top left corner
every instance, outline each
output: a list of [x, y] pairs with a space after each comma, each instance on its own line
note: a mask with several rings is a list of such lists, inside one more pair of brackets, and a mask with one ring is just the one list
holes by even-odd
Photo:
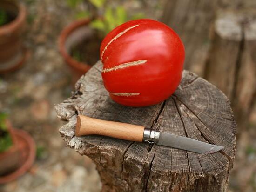
[[10, 0], [0, 0], [0, 7], [16, 16], [10, 23], [0, 26], [0, 73], [7, 73], [20, 67], [26, 58], [22, 45], [26, 9]]

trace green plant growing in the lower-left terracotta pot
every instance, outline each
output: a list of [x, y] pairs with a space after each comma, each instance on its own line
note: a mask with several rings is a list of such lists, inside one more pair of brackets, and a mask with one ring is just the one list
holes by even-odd
[[6, 119], [7, 114], [0, 113], [0, 152], [6, 151], [13, 144], [11, 135], [7, 130]]

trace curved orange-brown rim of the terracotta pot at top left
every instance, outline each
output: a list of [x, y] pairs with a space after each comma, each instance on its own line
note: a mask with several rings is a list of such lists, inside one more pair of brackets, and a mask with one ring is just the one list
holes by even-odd
[[0, 3], [12, 4], [19, 10], [17, 17], [13, 21], [7, 23], [6, 25], [0, 26], [0, 35], [8, 35], [10, 33], [13, 33], [13, 31], [17, 30], [18, 28], [20, 28], [20, 26], [23, 25], [27, 15], [26, 7], [20, 3], [7, 0], [3, 0]]

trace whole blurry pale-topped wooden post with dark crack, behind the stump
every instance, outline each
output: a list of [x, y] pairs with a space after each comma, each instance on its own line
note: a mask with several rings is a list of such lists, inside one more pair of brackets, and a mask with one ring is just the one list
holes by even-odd
[[205, 78], [230, 99], [241, 132], [256, 98], [256, 19], [249, 12], [221, 12]]

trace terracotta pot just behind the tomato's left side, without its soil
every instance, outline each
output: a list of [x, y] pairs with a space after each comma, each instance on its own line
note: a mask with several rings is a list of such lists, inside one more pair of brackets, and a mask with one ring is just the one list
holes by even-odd
[[90, 38], [94, 31], [88, 24], [89, 19], [74, 21], [71, 25], [64, 28], [59, 37], [59, 49], [66, 63], [71, 67], [74, 75], [74, 81], [78, 80], [81, 75], [85, 74], [92, 65], [88, 63], [74, 60], [70, 55], [70, 50], [74, 45], [77, 45], [81, 40]]

